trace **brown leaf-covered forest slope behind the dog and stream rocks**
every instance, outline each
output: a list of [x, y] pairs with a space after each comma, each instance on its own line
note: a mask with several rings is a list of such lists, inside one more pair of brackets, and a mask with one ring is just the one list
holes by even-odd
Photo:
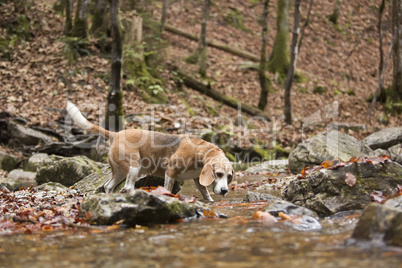
[[[261, 26], [259, 18], [262, 4], [256, 1], [214, 1], [210, 11], [207, 36], [259, 55]], [[308, 1], [302, 3], [302, 18], [305, 19]], [[124, 107], [127, 115], [154, 116], [156, 129], [172, 133], [202, 132], [213, 128], [232, 132], [240, 145], [249, 146], [258, 140], [268, 147], [280, 144], [290, 150], [303, 138], [330, 128], [331, 123], [364, 125], [364, 129], [346, 133], [362, 139], [368, 134], [385, 127], [400, 126], [402, 115], [394, 114], [385, 105], [377, 104], [372, 119], [366, 116], [378, 83], [379, 37], [377, 32], [378, 1], [356, 0], [341, 6], [338, 26], [328, 20], [336, 1], [315, 1], [310, 24], [298, 58], [298, 73], [305, 81], [293, 84], [293, 125], [283, 122], [283, 85], [275, 82], [272, 74], [271, 91], [265, 112], [271, 121], [252, 118], [243, 114], [243, 124], [238, 124], [238, 111], [218, 103], [189, 88], [176, 89], [174, 74], [161, 70], [166, 83], [164, 91], [169, 96], [168, 106], [145, 103], [138, 89], [128, 90], [124, 86]], [[63, 43], [64, 18], [52, 9], [52, 2], [35, 0], [27, 8], [30, 37], [10, 48], [11, 61], [0, 58], [0, 111], [26, 118], [31, 125], [57, 128], [55, 121], [61, 117], [66, 100], [74, 102], [87, 116], [99, 123], [104, 113], [107, 94], [107, 77], [110, 73], [110, 58], [102, 56], [91, 37], [88, 51], [71, 64], [65, 57]], [[125, 3], [122, 2], [121, 6]], [[123, 6], [122, 6], [123, 7]], [[123, 9], [123, 8], [122, 8]], [[244, 29], [225, 20], [233, 17], [233, 11], [242, 14]], [[160, 19], [161, 2], [151, 2], [146, 12]], [[168, 11], [168, 24], [192, 34], [200, 32], [202, 1], [174, 1]], [[293, 21], [293, 8], [290, 21]], [[12, 23], [17, 13], [10, 5], [0, 6], [2, 23]], [[268, 21], [268, 55], [272, 51], [276, 33], [276, 1], [271, 1]], [[303, 21], [302, 21], [303, 23]], [[4, 26], [4, 25], [2, 25]], [[292, 27], [292, 26], [291, 26]], [[391, 41], [391, 6], [387, 3], [384, 18], [384, 50]], [[0, 37], [5, 30], [0, 32]], [[291, 40], [291, 35], [289, 35]], [[197, 66], [185, 63], [197, 47], [197, 42], [165, 32], [163, 39], [168, 45], [160, 57], [182, 70], [196, 75]], [[242, 102], [257, 105], [260, 86], [255, 70], [248, 60], [209, 48], [208, 82], [211, 87]], [[161, 63], [161, 66], [162, 63]], [[385, 86], [392, 82], [392, 60], [385, 75]], [[323, 88], [321, 94], [315, 89]], [[183, 102], [186, 100], [188, 105]], [[194, 113], [192, 116], [189, 112]], [[130, 122], [127, 127], [143, 127], [147, 120]]]

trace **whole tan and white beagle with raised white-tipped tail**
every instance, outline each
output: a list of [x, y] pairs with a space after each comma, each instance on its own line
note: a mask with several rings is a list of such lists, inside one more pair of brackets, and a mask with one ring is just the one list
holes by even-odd
[[155, 175], [165, 178], [164, 187], [169, 191], [175, 180], [192, 179], [204, 199], [210, 202], [214, 201], [207, 189], [211, 184], [215, 194], [227, 194], [234, 170], [216, 145], [199, 138], [142, 129], [112, 132], [90, 123], [70, 101], [66, 109], [80, 128], [112, 141], [108, 152], [112, 177], [104, 185], [106, 193], [111, 193], [124, 178], [122, 192], [133, 192], [137, 180]]

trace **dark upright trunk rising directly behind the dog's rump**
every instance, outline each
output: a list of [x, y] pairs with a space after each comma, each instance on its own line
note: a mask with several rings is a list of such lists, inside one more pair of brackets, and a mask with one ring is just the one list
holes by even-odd
[[110, 0], [112, 31], [112, 64], [110, 89], [107, 96], [105, 127], [111, 131], [124, 128], [123, 91], [121, 89], [122, 27], [119, 17], [119, 0]]

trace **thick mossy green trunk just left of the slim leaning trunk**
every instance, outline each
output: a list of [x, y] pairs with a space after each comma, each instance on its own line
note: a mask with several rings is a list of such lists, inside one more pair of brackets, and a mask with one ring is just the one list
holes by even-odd
[[269, 61], [269, 70], [274, 74], [286, 75], [289, 68], [289, 1], [278, 0], [276, 36]]

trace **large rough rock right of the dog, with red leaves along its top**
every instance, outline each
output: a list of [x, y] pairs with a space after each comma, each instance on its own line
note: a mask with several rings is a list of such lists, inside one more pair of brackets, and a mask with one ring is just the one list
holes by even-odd
[[[346, 184], [346, 173], [356, 179]], [[282, 189], [282, 197], [295, 205], [305, 206], [318, 214], [332, 215], [339, 211], [363, 209], [370, 202], [373, 191], [391, 196], [402, 185], [402, 166], [391, 160], [372, 164], [356, 162], [335, 169], [320, 169], [296, 178]]]

